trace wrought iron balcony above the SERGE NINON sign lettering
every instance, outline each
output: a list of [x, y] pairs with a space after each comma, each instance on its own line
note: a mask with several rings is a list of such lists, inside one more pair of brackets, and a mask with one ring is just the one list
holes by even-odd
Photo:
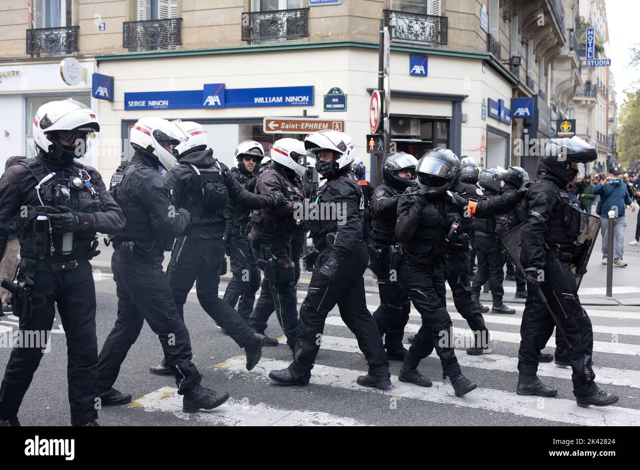
[[122, 23], [122, 47], [166, 48], [182, 44], [182, 18], [125, 21]]

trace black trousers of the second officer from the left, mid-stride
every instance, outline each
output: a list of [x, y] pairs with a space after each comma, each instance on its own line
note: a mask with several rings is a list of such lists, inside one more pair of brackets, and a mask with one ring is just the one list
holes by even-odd
[[157, 334], [180, 394], [200, 384], [200, 372], [191, 362], [189, 331], [178, 313], [169, 280], [161, 263], [136, 253], [130, 262], [115, 247], [111, 271], [118, 295], [118, 317], [98, 357], [100, 392], [109, 391], [120, 366], [138, 339], [143, 322]]

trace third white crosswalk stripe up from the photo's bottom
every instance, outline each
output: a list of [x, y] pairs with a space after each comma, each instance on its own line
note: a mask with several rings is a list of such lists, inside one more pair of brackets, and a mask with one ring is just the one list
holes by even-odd
[[[286, 342], [286, 341], [281, 341]], [[409, 347], [407, 344], [406, 347]], [[322, 349], [329, 349], [339, 352], [351, 352], [362, 354], [358, 347], [358, 341], [353, 338], [343, 338], [342, 336], [323, 336]], [[456, 350], [456, 353], [459, 350]], [[482, 356], [469, 356], [465, 352], [456, 354], [458, 363], [462, 367], [472, 367], [484, 370], [500, 370], [502, 372], [518, 373], [518, 358], [511, 356], [500, 356], [499, 354], [483, 354]], [[431, 353], [431, 357], [437, 359], [436, 352]], [[609, 384], [621, 387], [640, 388], [640, 371], [625, 370], [611, 367], [593, 367], [596, 373], [598, 384]], [[571, 380], [572, 369], [570, 367], [558, 367], [554, 363], [540, 363], [538, 375], [544, 377], [554, 377], [556, 379]], [[515, 385], [515, 380], [513, 382]]]

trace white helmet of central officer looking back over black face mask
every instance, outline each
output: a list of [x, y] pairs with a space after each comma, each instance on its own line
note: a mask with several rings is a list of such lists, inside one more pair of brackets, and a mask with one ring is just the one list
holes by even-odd
[[[316, 169], [323, 176], [348, 168], [356, 157], [351, 137], [337, 130], [324, 129], [308, 134], [305, 137], [305, 148], [316, 155]], [[321, 161], [320, 155], [323, 152], [332, 152], [333, 160]]]

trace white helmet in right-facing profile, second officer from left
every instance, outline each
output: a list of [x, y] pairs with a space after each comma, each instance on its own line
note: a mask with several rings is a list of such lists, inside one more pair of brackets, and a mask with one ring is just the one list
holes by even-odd
[[[162, 118], [139, 119], [129, 132], [131, 146], [140, 149], [148, 157], [157, 159], [169, 171], [176, 164], [175, 146], [186, 141], [187, 136], [173, 122]], [[171, 150], [165, 145], [172, 146]]]

